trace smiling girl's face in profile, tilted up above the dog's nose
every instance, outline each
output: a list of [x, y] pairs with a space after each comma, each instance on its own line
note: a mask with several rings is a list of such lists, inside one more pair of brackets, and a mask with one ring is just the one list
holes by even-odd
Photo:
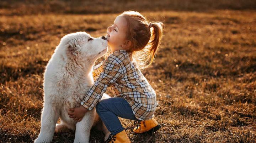
[[114, 24], [107, 28], [107, 41], [111, 51], [123, 49], [122, 45], [126, 41], [127, 21], [122, 16], [117, 16]]

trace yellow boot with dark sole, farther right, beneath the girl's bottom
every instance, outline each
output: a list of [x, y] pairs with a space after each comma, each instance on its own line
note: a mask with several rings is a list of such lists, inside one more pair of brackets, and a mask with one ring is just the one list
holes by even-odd
[[[136, 122], [134, 122], [134, 124], [136, 124]], [[144, 133], [144, 132], [152, 133], [152, 132], [159, 130], [159, 128], [161, 128], [161, 125], [158, 124], [158, 122], [154, 118], [152, 118], [150, 120], [145, 120], [145, 121], [141, 121], [141, 122], [137, 121], [137, 127], [135, 127], [133, 129], [133, 132], [135, 132], [135, 133]]]

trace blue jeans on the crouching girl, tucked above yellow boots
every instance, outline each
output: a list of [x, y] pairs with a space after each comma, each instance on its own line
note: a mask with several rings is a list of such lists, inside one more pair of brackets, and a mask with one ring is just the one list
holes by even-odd
[[102, 99], [96, 105], [96, 111], [112, 135], [124, 130], [118, 117], [140, 121], [135, 118], [129, 103], [121, 97]]

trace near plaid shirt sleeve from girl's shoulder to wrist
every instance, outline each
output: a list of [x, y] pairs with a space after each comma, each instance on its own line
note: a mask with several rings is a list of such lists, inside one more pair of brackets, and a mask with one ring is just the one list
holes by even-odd
[[120, 67], [120, 64], [116, 62], [116, 59], [106, 60], [105, 62], [103, 62], [102, 72], [96, 79], [94, 85], [89, 88], [85, 98], [80, 104], [83, 105], [85, 108], [92, 110], [101, 99], [107, 87], [111, 84], [116, 83], [116, 81], [122, 76], [122, 68]]

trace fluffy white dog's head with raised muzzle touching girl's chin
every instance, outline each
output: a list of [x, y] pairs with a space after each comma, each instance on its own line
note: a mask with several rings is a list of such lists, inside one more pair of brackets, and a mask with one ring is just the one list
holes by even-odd
[[107, 53], [108, 50], [105, 36], [94, 38], [86, 32], [67, 34], [60, 40], [60, 44], [63, 44], [69, 59], [92, 63]]

